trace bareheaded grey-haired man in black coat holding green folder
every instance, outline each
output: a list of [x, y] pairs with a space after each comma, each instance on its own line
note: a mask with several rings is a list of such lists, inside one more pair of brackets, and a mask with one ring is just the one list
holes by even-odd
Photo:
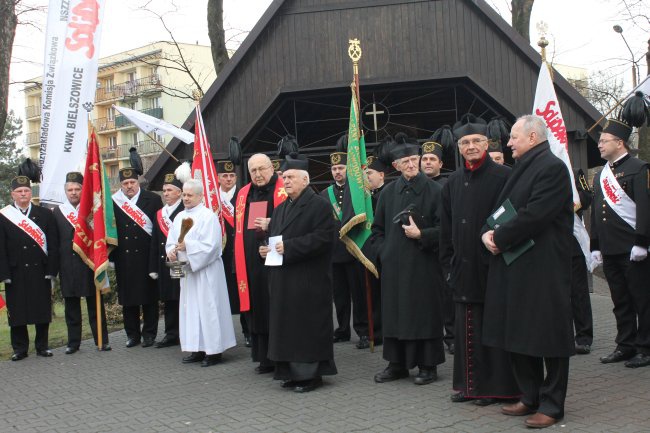
[[[571, 237], [573, 194], [566, 165], [546, 140], [546, 125], [522, 116], [512, 126], [508, 147], [515, 164], [496, 200], [515, 209], [494, 230], [483, 229], [492, 253], [485, 293], [483, 344], [510, 352], [522, 393], [503, 406], [505, 415], [523, 416], [533, 428], [549, 427], [564, 416], [569, 357], [574, 354], [571, 321]], [[532, 247], [521, 253], [522, 244]], [[502, 252], [518, 251], [506, 264]], [[546, 368], [546, 377], [544, 369]]]

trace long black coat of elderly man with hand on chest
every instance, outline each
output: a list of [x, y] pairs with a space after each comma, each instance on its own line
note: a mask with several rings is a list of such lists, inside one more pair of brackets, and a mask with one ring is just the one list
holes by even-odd
[[[409, 239], [393, 218], [409, 204], [424, 217], [421, 239]], [[442, 271], [438, 260], [440, 185], [419, 173], [400, 176], [382, 191], [372, 226], [372, 246], [381, 262], [384, 337], [442, 338]]]

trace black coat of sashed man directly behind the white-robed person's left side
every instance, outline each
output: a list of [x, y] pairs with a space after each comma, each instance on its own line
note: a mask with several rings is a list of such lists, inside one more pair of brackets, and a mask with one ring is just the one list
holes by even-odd
[[[174, 212], [170, 215], [172, 222], [176, 215], [185, 210], [183, 201], [178, 204]], [[158, 211], [156, 211], [158, 213]], [[171, 227], [169, 227], [171, 229]], [[161, 301], [178, 301], [181, 296], [181, 283], [178, 279], [173, 279], [169, 274], [169, 268], [165, 265], [167, 261], [167, 251], [165, 244], [167, 236], [160, 228], [158, 215], [153, 220], [153, 231], [151, 233], [151, 248], [149, 250], [149, 273], [158, 274], [158, 296]]]

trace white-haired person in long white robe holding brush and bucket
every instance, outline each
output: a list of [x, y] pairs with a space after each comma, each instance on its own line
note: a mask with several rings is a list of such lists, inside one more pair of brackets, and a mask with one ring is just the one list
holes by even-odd
[[[221, 360], [221, 353], [235, 346], [226, 277], [221, 261], [221, 225], [203, 203], [203, 185], [191, 179], [183, 185], [185, 210], [174, 219], [167, 237], [170, 260], [187, 261], [181, 278], [181, 349], [192, 352], [184, 363], [201, 362], [202, 367]], [[192, 228], [178, 242], [183, 220], [191, 218]]]

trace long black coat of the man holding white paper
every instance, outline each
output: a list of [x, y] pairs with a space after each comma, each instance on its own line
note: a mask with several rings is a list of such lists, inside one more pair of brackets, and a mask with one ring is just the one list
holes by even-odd
[[334, 358], [330, 262], [336, 226], [328, 200], [311, 188], [278, 206], [270, 236], [282, 236], [282, 266], [268, 267], [269, 359], [314, 362]]

